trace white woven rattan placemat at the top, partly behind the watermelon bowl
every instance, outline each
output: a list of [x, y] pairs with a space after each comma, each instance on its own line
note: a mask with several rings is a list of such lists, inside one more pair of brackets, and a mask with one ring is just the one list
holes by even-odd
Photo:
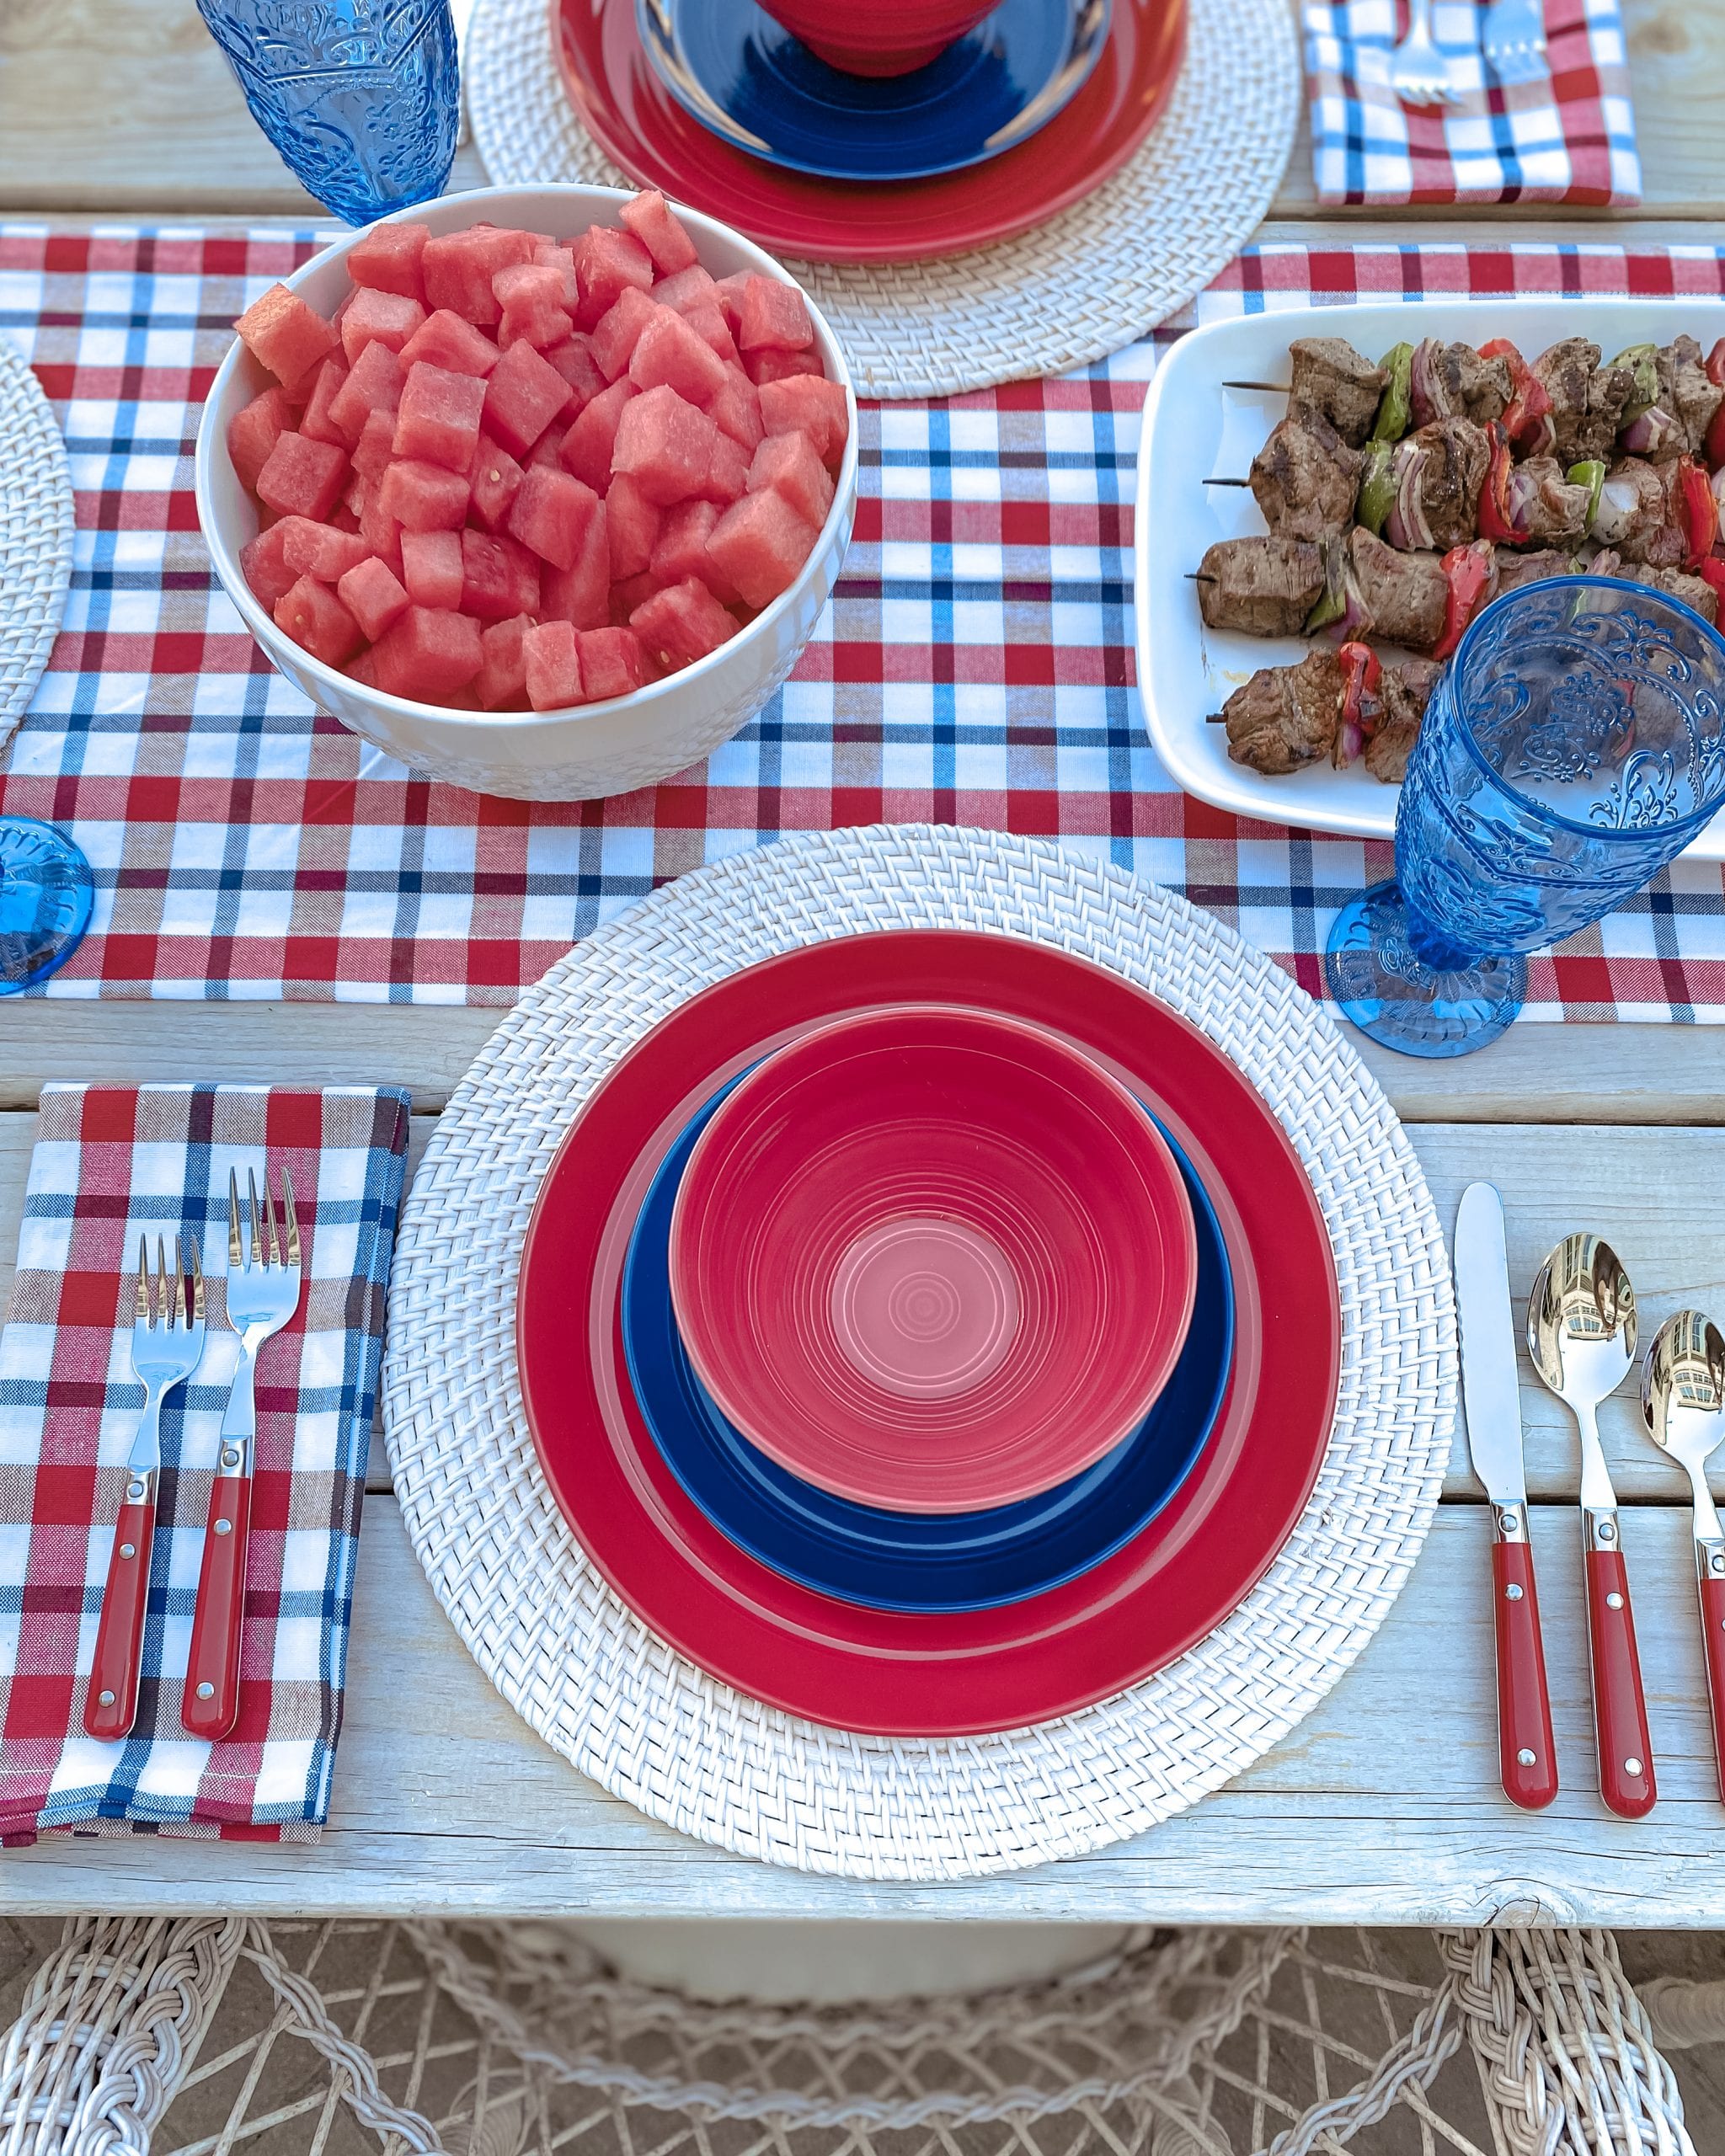
[[[466, 91], [498, 185], [632, 185], [569, 110], [546, 0], [477, 0]], [[1095, 194], [972, 254], [789, 270], [826, 310], [860, 397], [951, 397], [1054, 375], [1130, 345], [1233, 261], [1281, 183], [1298, 116], [1287, 0], [1190, 0], [1169, 108]]]

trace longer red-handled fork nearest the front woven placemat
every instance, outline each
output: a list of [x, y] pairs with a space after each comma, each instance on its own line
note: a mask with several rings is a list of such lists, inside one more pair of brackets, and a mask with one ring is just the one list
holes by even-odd
[[192, 1608], [192, 1654], [179, 1710], [194, 1738], [224, 1738], [239, 1720], [239, 1639], [246, 1611], [246, 1544], [252, 1529], [252, 1449], [257, 1442], [257, 1352], [300, 1309], [300, 1220], [293, 1181], [282, 1171], [282, 1220], [263, 1173], [259, 1233], [257, 1177], [246, 1173], [248, 1207], [242, 1235], [239, 1179], [229, 1171], [229, 1324], [239, 1335], [209, 1520], [203, 1535], [198, 1600]]

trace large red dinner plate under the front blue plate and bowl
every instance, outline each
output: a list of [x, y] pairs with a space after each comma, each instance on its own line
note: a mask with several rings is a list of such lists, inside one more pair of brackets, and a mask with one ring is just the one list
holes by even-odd
[[[1175, 1498], [1080, 1578], [988, 1611], [869, 1611], [744, 1554], [660, 1460], [623, 1365], [623, 1257], [684, 1123], [787, 1039], [897, 1003], [1003, 1011], [1098, 1056], [1179, 1141], [1216, 1205], [1236, 1279], [1227, 1408]], [[919, 929], [837, 938], [731, 975], [612, 1067], [569, 1128], [528, 1225], [518, 1358], [528, 1427], [569, 1526], [660, 1639], [815, 1723], [966, 1736], [1126, 1690], [1251, 1591], [1324, 1460], [1341, 1307], [1294, 1147], [1205, 1035], [1046, 944]]]

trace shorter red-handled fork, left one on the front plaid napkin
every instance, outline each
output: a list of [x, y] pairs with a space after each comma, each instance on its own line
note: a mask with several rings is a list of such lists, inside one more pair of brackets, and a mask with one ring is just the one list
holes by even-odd
[[138, 1680], [144, 1667], [144, 1613], [149, 1608], [149, 1557], [155, 1544], [155, 1485], [162, 1473], [162, 1401], [183, 1384], [203, 1356], [203, 1268], [198, 1246], [188, 1235], [188, 1270], [175, 1235], [175, 1274], [155, 1238], [155, 1274], [149, 1270], [149, 1238], [138, 1238], [138, 1296], [132, 1315], [132, 1369], [144, 1382], [144, 1412], [125, 1462], [125, 1498], [108, 1552], [101, 1589], [101, 1621], [95, 1632], [95, 1664], [84, 1697], [84, 1729], [93, 1738], [123, 1738], [138, 1716]]

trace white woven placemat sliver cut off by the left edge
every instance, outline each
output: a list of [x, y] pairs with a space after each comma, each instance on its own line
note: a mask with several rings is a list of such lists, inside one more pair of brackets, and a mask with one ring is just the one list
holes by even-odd
[[0, 336], [0, 748], [54, 649], [71, 589], [71, 470], [47, 397]]

